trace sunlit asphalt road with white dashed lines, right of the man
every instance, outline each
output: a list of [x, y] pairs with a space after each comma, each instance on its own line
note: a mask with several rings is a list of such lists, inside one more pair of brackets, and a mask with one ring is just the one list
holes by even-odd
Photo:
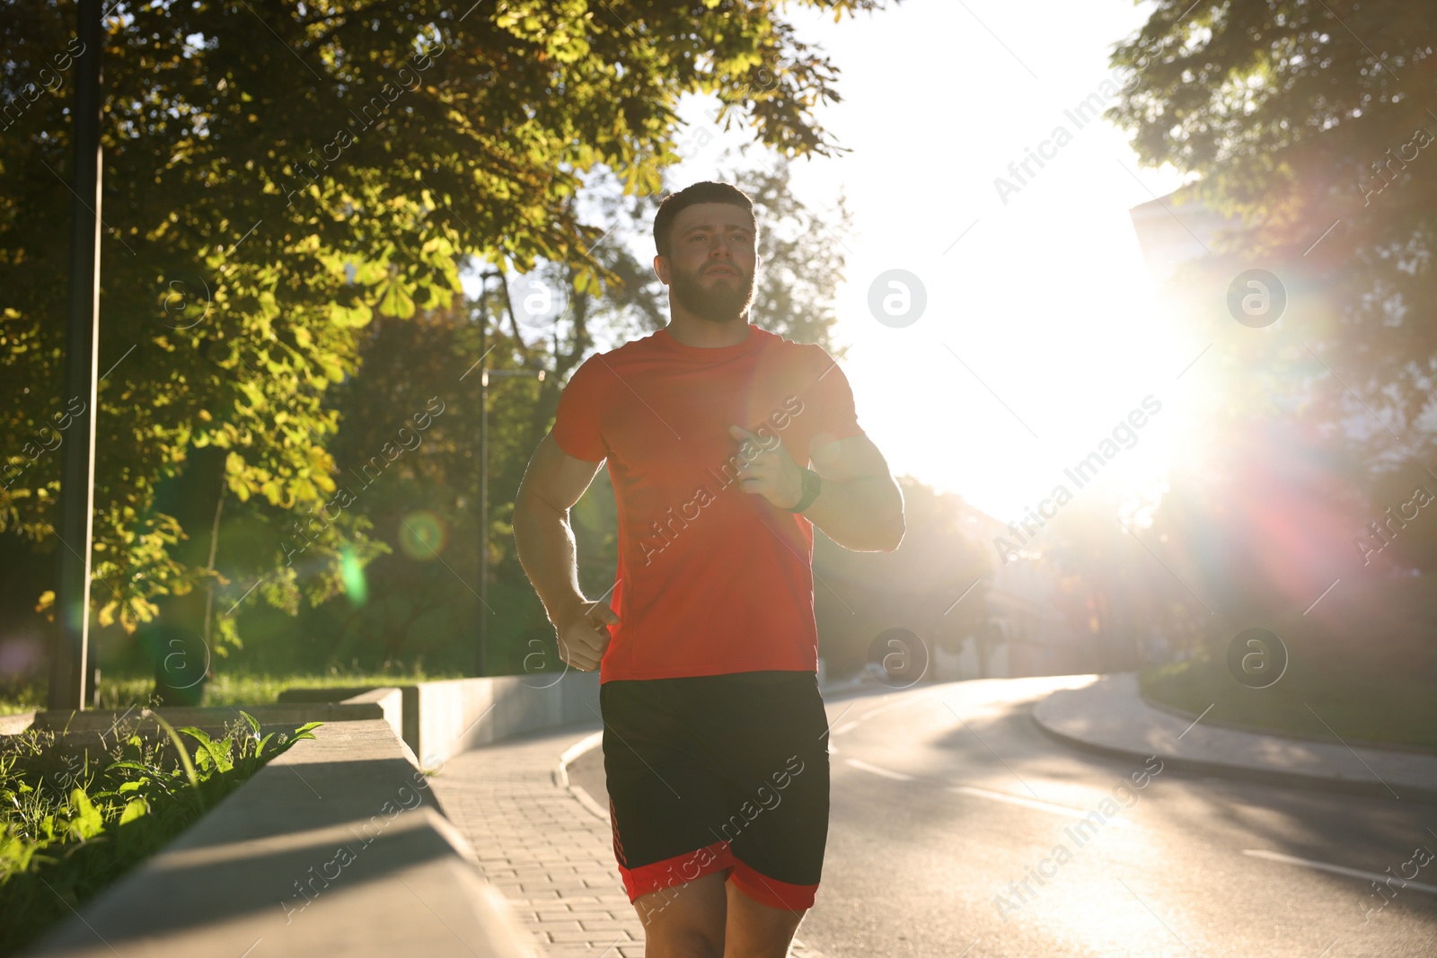
[[[1437, 957], [1437, 806], [1071, 748], [1030, 714], [1068, 682], [831, 699], [828, 852], [799, 936], [829, 958]], [[570, 778], [608, 804], [599, 750]], [[1411, 880], [1380, 893], [1384, 872]]]

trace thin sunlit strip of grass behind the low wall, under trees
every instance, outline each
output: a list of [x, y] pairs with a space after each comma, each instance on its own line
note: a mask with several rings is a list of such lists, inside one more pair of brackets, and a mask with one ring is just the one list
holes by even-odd
[[[435, 679], [461, 678], [407, 672], [316, 672], [295, 675], [260, 675], [249, 672], [216, 672], [204, 689], [203, 705], [267, 705], [286, 688], [346, 687], [346, 685], [410, 685]], [[101, 674], [98, 708], [128, 708], [149, 705], [155, 681], [152, 676], [106, 676]], [[26, 684], [0, 689], [0, 715], [13, 715], [46, 705], [46, 679], [36, 676]]]

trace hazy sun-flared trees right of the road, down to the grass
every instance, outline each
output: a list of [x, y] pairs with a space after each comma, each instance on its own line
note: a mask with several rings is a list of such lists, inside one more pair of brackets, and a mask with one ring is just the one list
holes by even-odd
[[1114, 53], [1135, 82], [1109, 116], [1144, 162], [1196, 174], [1188, 192], [1242, 223], [1188, 271], [1191, 317], [1226, 320], [1226, 286], [1249, 267], [1290, 297], [1283, 325], [1214, 338], [1204, 362], [1226, 383], [1210, 392], [1204, 488], [1180, 484], [1155, 529], [1187, 544], [1188, 569], [1209, 573], [1194, 587], [1237, 628], [1331, 632], [1348, 654], [1361, 638], [1381, 649], [1369, 661], [1407, 656], [1408, 671], [1423, 649], [1433, 674], [1430, 625], [1417, 625], [1430, 603], [1403, 566], [1437, 563], [1437, 524], [1395, 520], [1394, 547], [1359, 556], [1414, 487], [1437, 494], [1424, 473], [1437, 440], [1430, 13], [1397, 0], [1158, 0]]

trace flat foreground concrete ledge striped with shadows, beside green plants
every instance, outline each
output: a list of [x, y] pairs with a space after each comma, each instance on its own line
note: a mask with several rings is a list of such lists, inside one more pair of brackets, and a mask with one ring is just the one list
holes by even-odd
[[27, 954], [536, 958], [394, 728], [315, 734]]

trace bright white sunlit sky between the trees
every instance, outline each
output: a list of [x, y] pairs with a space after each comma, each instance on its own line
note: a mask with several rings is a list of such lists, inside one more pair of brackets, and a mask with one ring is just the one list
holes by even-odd
[[[1191, 427], [1201, 363], [1177, 376], [1210, 339], [1177, 327], [1154, 300], [1128, 213], [1183, 178], [1140, 168], [1106, 121], [1068, 115], [1094, 93], [1104, 109], [1115, 102], [1104, 83], [1122, 76], [1108, 55], [1148, 10], [1131, 0], [905, 0], [841, 23], [798, 6], [785, 13], [842, 70], [842, 102], [815, 115], [852, 152], [799, 159], [790, 172], [809, 207], [831, 210], [842, 192], [852, 213], [835, 340], [848, 348], [841, 366], [859, 424], [895, 475], [1003, 521], [1059, 483], [1081, 494], [1063, 470], [1150, 396], [1161, 411], [1140, 417], [1131, 448], [1122, 437], [1101, 481], [1151, 500]], [[704, 115], [716, 102], [680, 102], [690, 124], [680, 139], [703, 126], [714, 141], [685, 151], [671, 184], [718, 178], [734, 162], [724, 148], [753, 139], [739, 124], [717, 128]], [[1009, 165], [1039, 148], [1049, 158], [1016, 178]], [[750, 149], [747, 161], [763, 155]], [[904, 287], [885, 284], [892, 270], [915, 277], [898, 277], [907, 312]], [[879, 322], [885, 294], [898, 296], [898, 315]], [[762, 302], [752, 315], [763, 325]]]

